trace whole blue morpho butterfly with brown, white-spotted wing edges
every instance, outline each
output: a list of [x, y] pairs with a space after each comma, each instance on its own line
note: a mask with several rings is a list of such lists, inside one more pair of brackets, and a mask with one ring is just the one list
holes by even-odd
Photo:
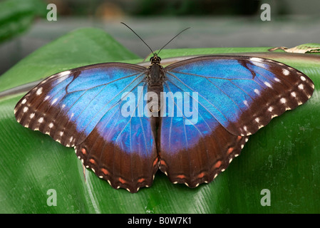
[[197, 187], [224, 171], [249, 135], [314, 91], [304, 73], [267, 58], [160, 61], [153, 53], [148, 68], [100, 63], [56, 73], [21, 98], [16, 120], [74, 147], [115, 189], [148, 187], [159, 168]]

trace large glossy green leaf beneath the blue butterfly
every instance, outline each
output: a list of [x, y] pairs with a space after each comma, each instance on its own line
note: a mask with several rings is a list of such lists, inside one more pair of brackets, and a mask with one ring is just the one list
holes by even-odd
[[[162, 50], [161, 58], [208, 53], [260, 55], [267, 49]], [[91, 170], [83, 174], [73, 148], [63, 147], [48, 135], [16, 122], [14, 106], [25, 93], [0, 95], [0, 212], [319, 213], [319, 56], [272, 55], [270, 58], [298, 68], [314, 81], [313, 97], [252, 135], [225, 172], [214, 182], [195, 189], [173, 185], [157, 172], [153, 186], [138, 193], [114, 190]], [[16, 64], [0, 77], [0, 91], [59, 71], [110, 61], [142, 60], [103, 31], [83, 28], [39, 48]], [[270, 191], [271, 206], [261, 204], [264, 189]], [[56, 206], [48, 206], [48, 190], [56, 190]]]

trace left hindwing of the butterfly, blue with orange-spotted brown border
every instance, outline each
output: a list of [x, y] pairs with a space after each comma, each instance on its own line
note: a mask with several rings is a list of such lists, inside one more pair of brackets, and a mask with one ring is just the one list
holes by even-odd
[[[146, 92], [147, 87], [143, 83], [140, 86]], [[123, 117], [121, 104], [105, 113], [75, 150], [83, 164], [108, 180], [112, 187], [137, 192], [140, 187], [152, 185], [158, 170], [153, 119], [138, 115]]]

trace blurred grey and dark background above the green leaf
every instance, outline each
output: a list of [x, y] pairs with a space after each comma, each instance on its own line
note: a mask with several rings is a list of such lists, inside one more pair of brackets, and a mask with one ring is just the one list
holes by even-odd
[[[56, 4], [57, 21], [46, 6]], [[262, 21], [262, 4], [271, 21]], [[98, 27], [144, 58], [183, 28], [166, 48], [287, 46], [320, 43], [319, 0], [2, 0], [0, 75], [37, 48], [76, 28]]]

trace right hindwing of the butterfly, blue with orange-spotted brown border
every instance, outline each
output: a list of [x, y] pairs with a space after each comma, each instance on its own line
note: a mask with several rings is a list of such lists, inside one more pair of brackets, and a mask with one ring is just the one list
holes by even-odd
[[[240, 154], [247, 137], [229, 133], [197, 102], [187, 107], [193, 109], [194, 116], [186, 116], [185, 107], [180, 104], [184, 99], [195, 101], [195, 94], [191, 92], [190, 98], [183, 95], [185, 90], [176, 82], [165, 82], [164, 92], [168, 95], [163, 98], [167, 100], [167, 110], [158, 131], [160, 170], [172, 182], [189, 187], [211, 182]], [[170, 115], [173, 109], [175, 115]]]

